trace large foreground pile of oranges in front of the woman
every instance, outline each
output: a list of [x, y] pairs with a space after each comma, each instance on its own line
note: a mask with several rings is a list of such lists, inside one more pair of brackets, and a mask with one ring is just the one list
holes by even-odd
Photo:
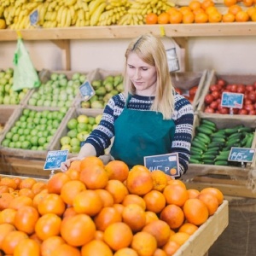
[[47, 183], [0, 177], [0, 255], [169, 256], [223, 200], [218, 189], [96, 157]]

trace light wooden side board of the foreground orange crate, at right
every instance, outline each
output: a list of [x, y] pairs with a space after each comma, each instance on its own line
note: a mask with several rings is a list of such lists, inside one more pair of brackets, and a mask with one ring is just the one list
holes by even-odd
[[203, 256], [229, 224], [229, 203], [224, 201], [207, 222], [189, 237], [173, 256]]

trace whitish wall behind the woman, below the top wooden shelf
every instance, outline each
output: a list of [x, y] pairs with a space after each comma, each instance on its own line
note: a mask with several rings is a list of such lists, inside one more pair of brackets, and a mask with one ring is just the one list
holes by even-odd
[[[255, 74], [256, 37], [189, 38], [189, 70], [214, 69], [217, 73]], [[97, 67], [122, 70], [130, 39], [72, 40], [71, 69], [89, 72]], [[164, 42], [166, 49], [172, 43]], [[49, 41], [25, 41], [34, 66], [61, 70], [61, 49]], [[16, 42], [0, 42], [0, 69], [13, 67]], [[179, 51], [177, 51], [178, 54]]]

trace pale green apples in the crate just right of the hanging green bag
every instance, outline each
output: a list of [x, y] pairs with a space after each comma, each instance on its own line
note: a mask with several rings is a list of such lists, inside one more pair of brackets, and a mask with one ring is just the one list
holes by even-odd
[[86, 75], [73, 73], [72, 79], [67, 79], [65, 73], [51, 73], [50, 79], [35, 89], [28, 100], [29, 106], [40, 107], [71, 107], [79, 86], [84, 83]]

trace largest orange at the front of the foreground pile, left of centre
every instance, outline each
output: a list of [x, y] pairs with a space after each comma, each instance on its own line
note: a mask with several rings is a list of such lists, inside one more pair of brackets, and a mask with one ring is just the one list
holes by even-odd
[[61, 223], [61, 237], [73, 247], [80, 247], [94, 239], [96, 225], [90, 216], [77, 214]]

